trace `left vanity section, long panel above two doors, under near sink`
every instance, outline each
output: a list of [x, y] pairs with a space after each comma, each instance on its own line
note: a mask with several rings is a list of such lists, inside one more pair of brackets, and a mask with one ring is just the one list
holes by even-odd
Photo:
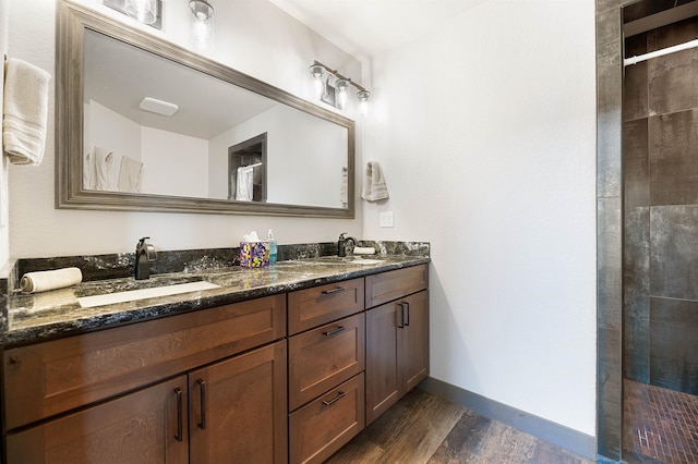
[[285, 463], [285, 337], [276, 295], [9, 350], [8, 464]]

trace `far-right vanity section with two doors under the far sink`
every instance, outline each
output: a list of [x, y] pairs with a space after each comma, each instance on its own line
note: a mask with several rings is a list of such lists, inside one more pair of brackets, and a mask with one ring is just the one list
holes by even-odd
[[429, 375], [426, 272], [420, 266], [366, 278], [366, 289], [378, 290], [378, 297], [366, 290], [366, 302], [401, 296], [366, 310], [366, 425]]

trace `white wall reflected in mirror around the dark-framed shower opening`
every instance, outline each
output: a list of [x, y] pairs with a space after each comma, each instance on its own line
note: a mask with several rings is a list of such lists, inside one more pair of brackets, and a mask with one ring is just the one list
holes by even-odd
[[347, 166], [348, 131], [285, 105], [210, 141], [210, 197], [227, 196], [228, 147], [263, 132], [267, 133], [268, 203], [344, 207], [340, 185], [341, 168]]

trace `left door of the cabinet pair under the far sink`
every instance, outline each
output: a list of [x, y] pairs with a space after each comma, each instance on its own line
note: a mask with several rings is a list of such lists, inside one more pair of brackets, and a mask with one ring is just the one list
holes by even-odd
[[399, 399], [400, 318], [397, 302], [366, 312], [366, 425]]

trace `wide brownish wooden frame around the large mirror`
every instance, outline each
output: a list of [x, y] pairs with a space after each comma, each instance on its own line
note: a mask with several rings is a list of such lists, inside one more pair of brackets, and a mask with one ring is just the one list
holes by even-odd
[[[179, 64], [335, 123], [348, 131], [348, 205], [328, 208], [268, 203], [232, 202], [142, 193], [86, 191], [83, 172], [83, 69], [85, 29], [113, 37]], [[354, 122], [285, 90], [99, 15], [61, 1], [58, 8], [56, 76], [56, 207], [122, 211], [203, 212], [232, 215], [354, 218]], [[339, 186], [337, 186], [339, 190]]]

